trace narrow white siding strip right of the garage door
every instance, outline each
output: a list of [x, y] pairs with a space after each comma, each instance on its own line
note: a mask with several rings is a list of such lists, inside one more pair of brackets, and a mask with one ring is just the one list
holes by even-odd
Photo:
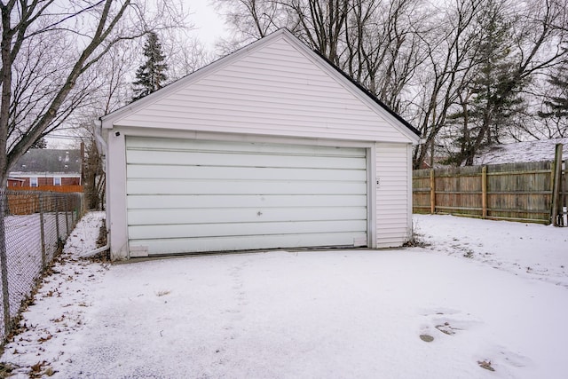
[[410, 159], [410, 145], [376, 146], [377, 248], [401, 246], [411, 233]]

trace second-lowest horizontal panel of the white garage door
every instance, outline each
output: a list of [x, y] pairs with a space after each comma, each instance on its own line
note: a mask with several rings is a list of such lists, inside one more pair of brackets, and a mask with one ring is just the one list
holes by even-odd
[[337, 221], [291, 221], [238, 224], [190, 224], [190, 225], [136, 225], [130, 226], [130, 238], [170, 239], [170, 238], [202, 238], [245, 235], [278, 235], [310, 233], [351, 233], [365, 229], [367, 220], [337, 220]]

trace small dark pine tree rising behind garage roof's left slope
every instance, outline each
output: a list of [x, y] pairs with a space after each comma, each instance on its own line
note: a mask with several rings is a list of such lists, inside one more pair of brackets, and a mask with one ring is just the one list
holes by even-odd
[[165, 74], [168, 65], [164, 63], [166, 57], [162, 52], [162, 43], [155, 32], [150, 32], [144, 44], [144, 56], [146, 61], [136, 71], [134, 84], [134, 97], [132, 101], [144, 98], [154, 91], [163, 87], [167, 80]]

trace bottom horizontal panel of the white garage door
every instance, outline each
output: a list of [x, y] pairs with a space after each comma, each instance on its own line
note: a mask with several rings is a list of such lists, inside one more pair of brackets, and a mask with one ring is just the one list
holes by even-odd
[[[137, 240], [130, 243], [131, 250], [145, 251], [148, 255], [183, 254], [187, 252], [233, 251], [255, 249], [286, 249], [298, 247], [365, 246], [366, 233], [310, 233], [295, 235], [254, 235], [240, 237], [213, 237], [195, 239]], [[321, 241], [326, 241], [322, 244]], [[192, 250], [187, 250], [192, 247]]]

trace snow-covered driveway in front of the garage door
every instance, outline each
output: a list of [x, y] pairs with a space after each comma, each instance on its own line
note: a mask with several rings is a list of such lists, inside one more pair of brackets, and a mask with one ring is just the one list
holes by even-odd
[[[567, 295], [421, 252], [121, 265], [97, 288], [104, 305], [68, 377], [490, 377], [485, 359], [501, 377], [560, 377]], [[436, 329], [446, 323], [454, 335]]]

